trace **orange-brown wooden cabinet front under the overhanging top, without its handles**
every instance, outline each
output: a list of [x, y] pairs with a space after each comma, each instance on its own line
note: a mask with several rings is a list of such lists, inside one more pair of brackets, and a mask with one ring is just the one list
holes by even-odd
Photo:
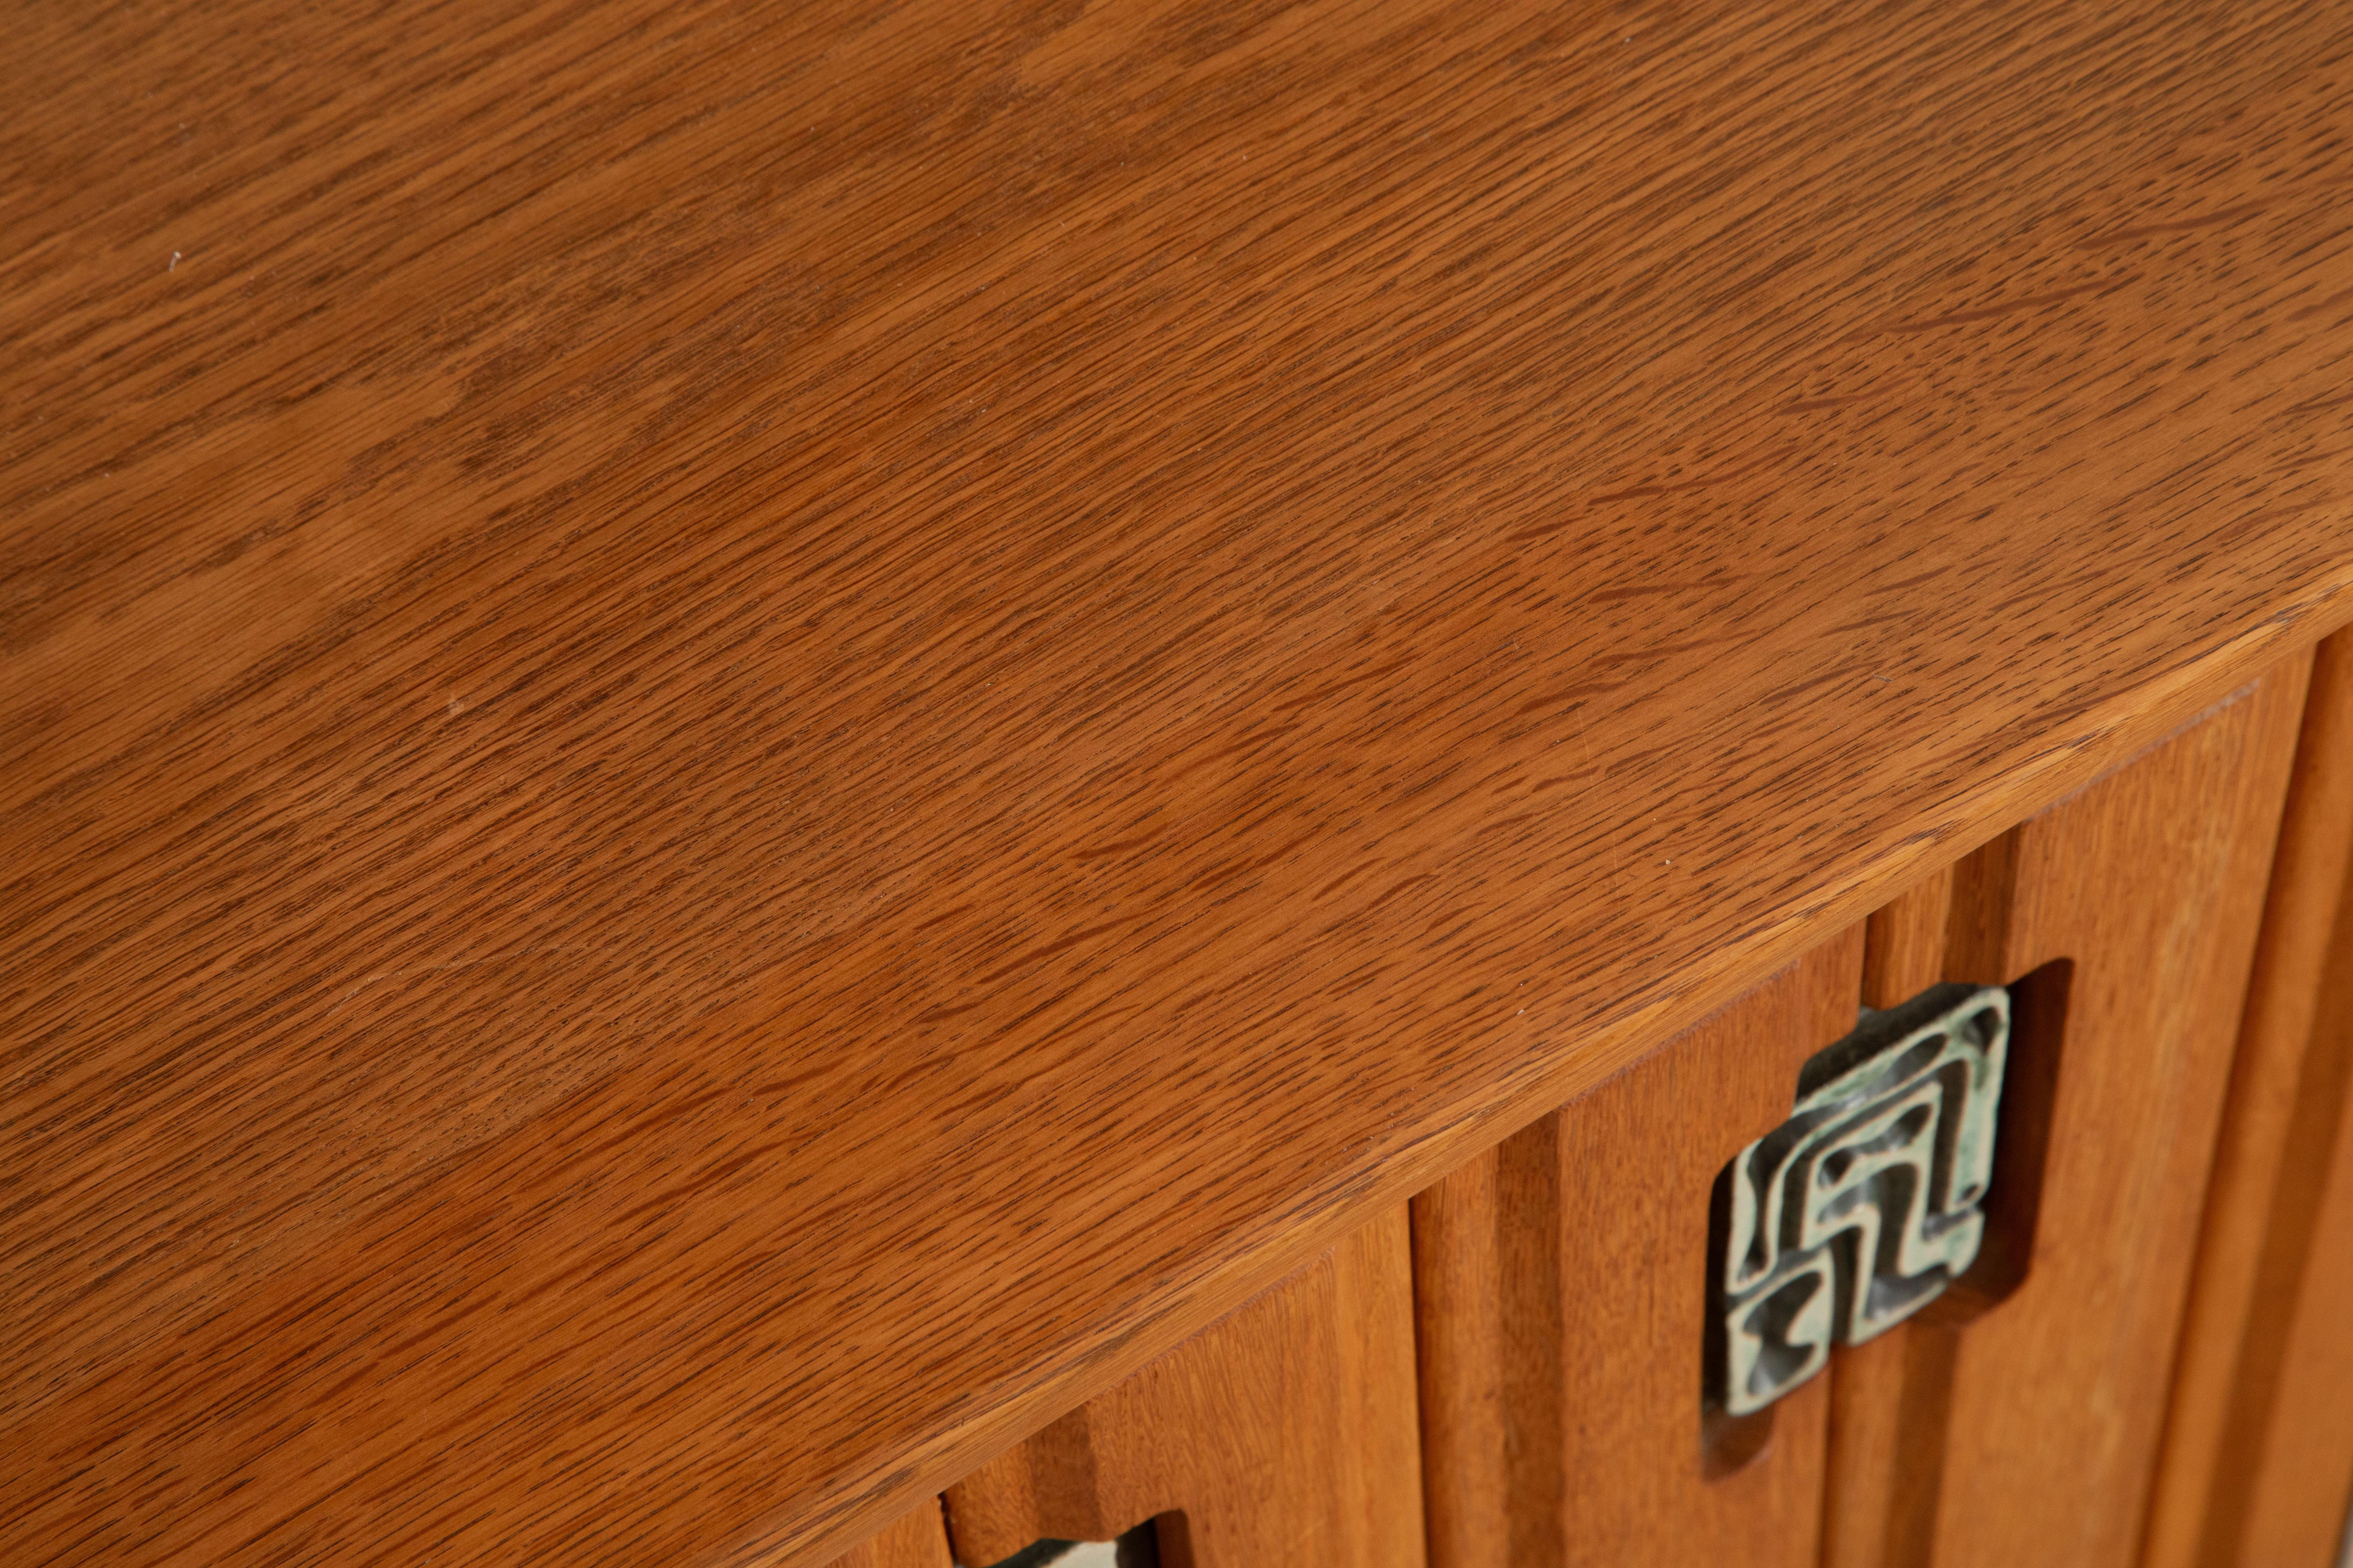
[[[2320, 1568], [2353, 1472], [2329, 1420], [2353, 1385], [2332, 1244], [2353, 1009], [2329, 980], [2353, 973], [2353, 642], [2311, 670], [2278, 665], [1000, 1455], [951, 1490], [946, 1535], [911, 1516], [854, 1561], [1146, 1528], [1165, 1568], [2127, 1568], [2144, 1540], [2148, 1568]], [[1711, 1410], [1718, 1175], [1857, 1004], [1939, 983], [2009, 987], [1977, 1260], [1767, 1410]], [[2151, 1514], [2160, 1439], [2188, 1505]], [[2292, 1462], [2233, 1460], [2266, 1446]]]

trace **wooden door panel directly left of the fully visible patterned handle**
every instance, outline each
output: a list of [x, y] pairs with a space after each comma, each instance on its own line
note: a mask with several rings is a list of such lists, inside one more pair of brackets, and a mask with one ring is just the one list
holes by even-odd
[[1812, 1568], [1828, 1385], [1734, 1474], [1701, 1453], [1708, 1192], [1861, 961], [1852, 929], [1414, 1199], [1433, 1568]]

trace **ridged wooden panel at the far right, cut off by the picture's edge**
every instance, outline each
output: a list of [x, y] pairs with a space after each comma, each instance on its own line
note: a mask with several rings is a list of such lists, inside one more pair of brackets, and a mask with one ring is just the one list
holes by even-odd
[[2353, 1493], [2353, 635], [2313, 661], [2146, 1568], [2327, 1568]]

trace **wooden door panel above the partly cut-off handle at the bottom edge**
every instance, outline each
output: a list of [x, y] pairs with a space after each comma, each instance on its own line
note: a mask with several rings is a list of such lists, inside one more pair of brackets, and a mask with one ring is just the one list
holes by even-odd
[[1421, 1568], [1402, 1206], [948, 1490], [965, 1563], [1155, 1519], [1162, 1568]]

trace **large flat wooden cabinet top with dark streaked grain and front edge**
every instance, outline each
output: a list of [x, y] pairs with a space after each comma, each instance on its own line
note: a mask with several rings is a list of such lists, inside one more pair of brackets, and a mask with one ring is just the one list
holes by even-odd
[[19, 5], [0, 1556], [821, 1561], [2344, 623], [2348, 35]]

